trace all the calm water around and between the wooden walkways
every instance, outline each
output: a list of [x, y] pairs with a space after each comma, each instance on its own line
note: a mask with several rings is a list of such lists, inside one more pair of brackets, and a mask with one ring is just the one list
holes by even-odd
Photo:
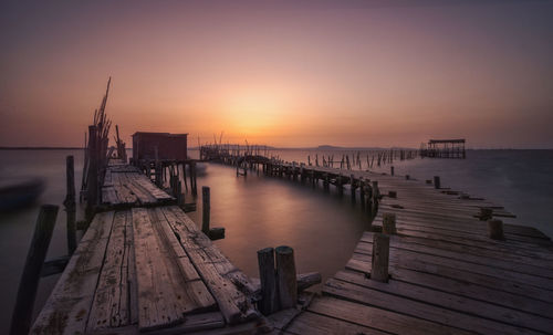
[[[315, 151], [272, 154], [290, 161], [306, 161], [307, 155], [313, 158]], [[341, 159], [341, 151], [333, 154], [335, 160]], [[362, 153], [362, 160], [366, 154]], [[65, 196], [66, 155], [75, 156], [79, 187], [81, 150], [0, 150], [0, 176], [42, 176], [48, 188], [38, 203], [61, 206]], [[194, 157], [197, 151], [190, 155]], [[319, 155], [322, 161], [323, 153]], [[492, 199], [517, 213], [518, 223], [538, 227], [553, 235], [553, 150], [476, 150], [469, 151], [466, 160], [415, 159], [395, 161], [394, 166], [397, 175], [409, 174], [418, 179], [439, 175], [444, 186]], [[389, 171], [389, 165], [380, 170]], [[313, 189], [310, 185], [255, 174], [237, 178], [234, 169], [219, 165], [209, 165], [207, 174], [199, 177], [198, 186], [204, 185], [211, 188], [212, 226], [227, 229], [227, 238], [216, 243], [251, 276], [258, 276], [255, 251], [280, 244], [295, 249], [300, 272], [320, 271], [331, 275], [344, 266], [367, 224], [362, 209], [353, 206], [347, 195], [341, 198], [334, 192], [325, 193], [321, 187]], [[192, 199], [187, 195], [189, 201]], [[35, 205], [18, 212], [0, 213], [0, 334], [9, 327], [38, 210]], [[200, 213], [198, 206], [198, 211], [190, 217], [199, 222]], [[66, 252], [64, 220], [65, 212], [61, 210], [49, 258]], [[56, 280], [58, 276], [51, 276], [41, 281], [36, 310]]]

